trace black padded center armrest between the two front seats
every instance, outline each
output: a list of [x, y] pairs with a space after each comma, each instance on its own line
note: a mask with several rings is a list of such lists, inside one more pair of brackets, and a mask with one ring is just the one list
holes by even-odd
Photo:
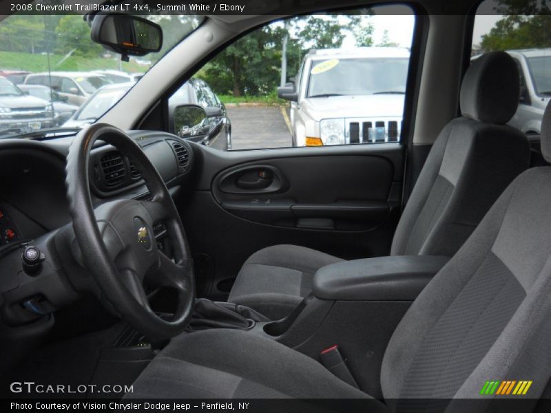
[[395, 255], [337, 262], [313, 277], [313, 295], [344, 301], [413, 301], [448, 262], [440, 255]]

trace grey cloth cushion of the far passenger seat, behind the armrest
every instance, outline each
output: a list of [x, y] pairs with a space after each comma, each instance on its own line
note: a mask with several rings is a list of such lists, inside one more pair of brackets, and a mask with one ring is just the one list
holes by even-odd
[[304, 246], [263, 248], [243, 264], [228, 301], [254, 308], [270, 319], [281, 319], [310, 293], [318, 269], [340, 261]]

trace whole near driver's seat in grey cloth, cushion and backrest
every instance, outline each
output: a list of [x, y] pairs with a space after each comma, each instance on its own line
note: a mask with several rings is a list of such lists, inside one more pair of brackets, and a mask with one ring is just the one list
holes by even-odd
[[[541, 139], [551, 162], [551, 105]], [[415, 399], [417, 412], [439, 403], [447, 413], [466, 411], [446, 406], [449, 399], [477, 399], [468, 410], [477, 413], [503, 411], [495, 408], [503, 396], [480, 394], [486, 381], [530, 380], [522, 398], [535, 403], [551, 377], [550, 205], [551, 167], [522, 173], [503, 192], [393, 332], [380, 376], [384, 405], [314, 359], [235, 330], [173, 339], [127, 397], [364, 398], [373, 401], [369, 412], [410, 412]]]

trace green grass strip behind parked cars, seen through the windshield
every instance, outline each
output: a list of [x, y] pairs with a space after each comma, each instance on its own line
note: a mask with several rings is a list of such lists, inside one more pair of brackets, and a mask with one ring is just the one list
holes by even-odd
[[[118, 61], [116, 59], [70, 56], [63, 61], [60, 54], [50, 54], [50, 70], [70, 70], [79, 72], [88, 72], [90, 70], [114, 69], [118, 70]], [[21, 52], [0, 52], [0, 68], [12, 70], [28, 70], [29, 72], [47, 72], [48, 56], [44, 54], [32, 54]], [[130, 61], [123, 62], [124, 72], [145, 72], [147, 66], [138, 65]]]

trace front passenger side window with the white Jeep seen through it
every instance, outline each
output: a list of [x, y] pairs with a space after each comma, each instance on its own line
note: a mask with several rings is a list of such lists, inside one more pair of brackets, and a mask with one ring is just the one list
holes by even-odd
[[195, 74], [198, 104], [225, 105], [233, 150], [396, 145], [414, 29], [396, 5], [273, 21]]

